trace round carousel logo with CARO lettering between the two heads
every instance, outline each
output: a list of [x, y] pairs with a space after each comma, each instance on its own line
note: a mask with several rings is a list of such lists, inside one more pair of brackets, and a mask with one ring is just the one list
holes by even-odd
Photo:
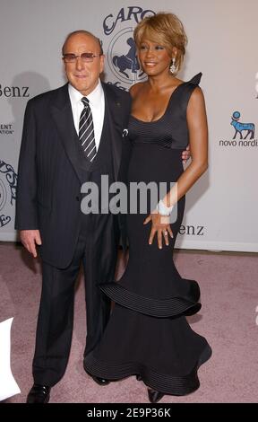
[[136, 57], [133, 29], [151, 14], [155, 13], [138, 6], [122, 7], [117, 15], [110, 13], [103, 21], [104, 33], [108, 37], [107, 63], [116, 78], [116, 85], [134, 84], [145, 78]]

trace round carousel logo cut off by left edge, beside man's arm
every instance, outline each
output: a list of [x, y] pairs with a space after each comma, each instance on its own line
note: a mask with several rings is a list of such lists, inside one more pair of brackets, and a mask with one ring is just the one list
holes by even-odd
[[[4, 209], [8, 198], [11, 206], [13, 206], [13, 201], [16, 199], [16, 187], [17, 174], [13, 166], [0, 160], [0, 212]], [[0, 228], [10, 223], [10, 221], [10, 215], [0, 214]]]

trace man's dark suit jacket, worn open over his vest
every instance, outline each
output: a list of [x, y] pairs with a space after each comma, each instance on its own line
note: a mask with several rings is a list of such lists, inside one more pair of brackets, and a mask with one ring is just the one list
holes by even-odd
[[[105, 119], [109, 123], [108, 135], [102, 136], [110, 136], [115, 180], [120, 180], [125, 177], [130, 154], [129, 142], [122, 135], [131, 100], [128, 92], [114, 85], [102, 86]], [[18, 168], [15, 228], [39, 229], [41, 258], [58, 268], [65, 268], [73, 259], [80, 231], [81, 186], [85, 180], [80, 174], [76, 143], [68, 84], [28, 102]], [[125, 239], [123, 223], [120, 225]]]

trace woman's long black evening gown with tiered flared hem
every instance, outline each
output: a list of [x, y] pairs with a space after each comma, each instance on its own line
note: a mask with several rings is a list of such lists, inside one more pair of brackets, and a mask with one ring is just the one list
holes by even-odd
[[[133, 151], [128, 182], [176, 181], [184, 171], [181, 154], [188, 145], [186, 108], [202, 74], [180, 84], [165, 114], [143, 122], [131, 116], [129, 136]], [[168, 185], [169, 189], [169, 185]], [[115, 307], [98, 347], [85, 357], [85, 370], [107, 380], [139, 374], [150, 388], [185, 395], [199, 385], [197, 370], [211, 356], [206, 339], [195, 333], [185, 315], [198, 312], [200, 289], [196, 281], [180, 277], [173, 251], [182, 223], [185, 198], [177, 203], [172, 224], [174, 239], [159, 250], [157, 238], [149, 245], [150, 214], [128, 214], [129, 261], [119, 282], [101, 286]]]

